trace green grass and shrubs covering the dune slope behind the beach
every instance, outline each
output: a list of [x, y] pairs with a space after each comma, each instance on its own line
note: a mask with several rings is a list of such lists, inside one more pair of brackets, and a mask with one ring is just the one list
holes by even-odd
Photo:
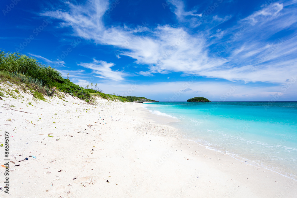
[[[69, 74], [67, 74], [67, 78], [62, 78], [59, 71], [39, 63], [35, 58], [22, 55], [18, 52], [10, 53], [0, 50], [0, 82], [1, 81], [8, 84], [17, 84], [23, 89], [23, 92], [29, 89], [36, 99], [44, 101], [46, 100], [45, 95], [58, 95], [57, 91], [55, 91], [55, 89], [57, 89], [71, 96], [85, 100], [86, 102], [92, 102], [92, 96], [99, 96], [113, 101], [119, 100], [121, 102], [157, 102], [144, 97], [124, 97], [114, 94], [104, 94], [102, 90], [97, 88], [97, 84], [95, 84], [93, 89], [93, 82], [91, 86], [87, 85], [85, 89], [70, 82]], [[20, 91], [17, 89], [12, 91], [14, 92], [10, 92], [10, 90], [4, 92], [15, 99], [21, 97]], [[15, 96], [15, 93], [17, 93], [18, 96]], [[4, 96], [4, 93], [0, 92], [0, 96]], [[66, 100], [64, 101], [68, 102]], [[31, 105], [31, 103], [28, 104]]]

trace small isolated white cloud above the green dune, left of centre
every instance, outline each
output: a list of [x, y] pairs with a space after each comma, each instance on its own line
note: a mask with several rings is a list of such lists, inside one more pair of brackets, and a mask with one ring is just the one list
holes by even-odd
[[105, 61], [97, 61], [95, 58], [92, 63], [80, 63], [79, 66], [83, 66], [85, 68], [92, 69], [92, 72], [95, 77], [111, 79], [111, 80], [124, 80], [123, 76], [128, 76], [128, 74], [124, 72], [120, 72], [118, 70], [113, 71], [110, 67], [114, 66], [114, 63], [107, 63]]

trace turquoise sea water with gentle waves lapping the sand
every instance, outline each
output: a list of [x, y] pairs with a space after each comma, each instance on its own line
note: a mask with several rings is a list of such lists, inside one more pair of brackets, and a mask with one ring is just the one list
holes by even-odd
[[297, 180], [297, 102], [159, 102], [152, 113], [190, 140]]

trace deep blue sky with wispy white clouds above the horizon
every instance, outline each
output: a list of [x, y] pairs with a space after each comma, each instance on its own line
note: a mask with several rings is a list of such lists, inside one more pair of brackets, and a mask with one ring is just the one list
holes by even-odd
[[0, 48], [159, 101], [296, 101], [297, 1], [3, 0]]

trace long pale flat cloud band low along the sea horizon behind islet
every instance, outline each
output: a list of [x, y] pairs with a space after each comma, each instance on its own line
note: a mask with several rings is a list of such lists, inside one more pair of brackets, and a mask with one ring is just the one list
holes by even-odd
[[223, 101], [224, 99], [226, 101], [237, 101], [241, 98], [244, 98], [245, 101], [268, 101], [276, 95], [279, 95], [279, 101], [290, 101], [294, 98], [294, 93], [297, 91], [297, 82], [287, 87], [286, 91], [283, 89], [283, 85], [263, 87], [235, 82], [205, 82], [198, 81], [195, 77], [190, 78], [188, 81], [145, 84], [107, 81], [99, 82], [98, 87], [108, 90], [109, 93], [116, 93], [122, 96], [144, 96], [159, 101], [169, 101], [170, 99], [187, 101], [187, 99], [194, 96], [203, 96], [212, 101]]

